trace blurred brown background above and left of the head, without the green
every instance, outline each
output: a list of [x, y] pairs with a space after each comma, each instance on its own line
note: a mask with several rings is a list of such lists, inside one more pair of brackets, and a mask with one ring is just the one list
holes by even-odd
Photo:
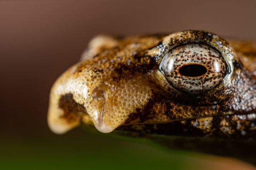
[[254, 0], [0, 1], [2, 143], [55, 138], [46, 123], [50, 88], [95, 35], [204, 29], [256, 39], [255, 7]]

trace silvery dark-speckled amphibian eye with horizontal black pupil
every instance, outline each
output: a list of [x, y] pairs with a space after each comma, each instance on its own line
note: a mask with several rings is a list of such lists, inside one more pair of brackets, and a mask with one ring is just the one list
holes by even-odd
[[172, 87], [190, 94], [213, 89], [230, 70], [217, 49], [201, 43], [180, 45], [170, 50], [159, 69]]

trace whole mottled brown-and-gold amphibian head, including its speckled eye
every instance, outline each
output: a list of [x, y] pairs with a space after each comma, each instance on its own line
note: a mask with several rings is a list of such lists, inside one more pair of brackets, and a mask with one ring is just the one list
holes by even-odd
[[99, 35], [52, 86], [48, 125], [256, 165], [256, 42], [203, 30]]

